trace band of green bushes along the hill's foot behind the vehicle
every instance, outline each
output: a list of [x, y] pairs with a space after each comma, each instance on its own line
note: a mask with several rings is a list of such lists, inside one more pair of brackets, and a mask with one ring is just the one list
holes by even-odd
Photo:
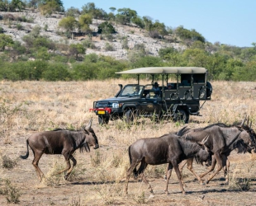
[[[10, 62], [11, 53], [0, 55], [0, 79], [11, 81], [45, 80], [45, 81], [86, 81], [92, 79], [135, 77], [116, 75], [130, 68], [154, 66], [195, 66], [208, 69], [211, 80], [255, 81], [256, 49], [221, 47], [220, 51], [211, 54], [204, 49], [186, 49], [178, 52], [173, 48], [160, 49], [159, 57], [149, 56], [141, 50], [130, 53], [129, 60], [116, 60], [107, 56], [87, 54], [77, 61], [73, 56], [48, 54], [44, 49], [34, 51], [40, 59], [29, 60], [26, 55]], [[235, 50], [233, 50], [235, 49]], [[244, 57], [246, 51], [247, 58]], [[45, 54], [44, 54], [45, 52]], [[254, 54], [254, 55], [253, 55]], [[250, 57], [249, 57], [250, 56]]]

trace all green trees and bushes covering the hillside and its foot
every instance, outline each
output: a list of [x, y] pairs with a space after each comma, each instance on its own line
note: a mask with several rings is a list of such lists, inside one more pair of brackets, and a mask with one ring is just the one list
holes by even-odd
[[[55, 6], [55, 7], [54, 7]], [[0, 26], [0, 79], [11, 81], [45, 80], [45, 81], [85, 81], [89, 79], [106, 79], [118, 77], [133, 77], [116, 75], [130, 68], [170, 66], [170, 67], [204, 67], [208, 69], [211, 80], [256, 81], [256, 43], [249, 48], [239, 48], [232, 45], [211, 44], [196, 30], [187, 30], [178, 26], [175, 30], [159, 21], [152, 21], [149, 16], [142, 18], [130, 8], [111, 7], [111, 12], [95, 7], [88, 2], [82, 10], [71, 7], [64, 11], [61, 0], [38, 1], [1, 1], [0, 11], [21, 11], [26, 7], [39, 9], [43, 15], [53, 12], [64, 12], [65, 17], [59, 21], [59, 27], [66, 38], [72, 38], [78, 31], [88, 37], [78, 44], [54, 42], [40, 35], [40, 30], [48, 30], [34, 26], [28, 35], [22, 38], [25, 44], [12, 40], [12, 36], [4, 34]], [[115, 14], [116, 13], [116, 14]], [[116, 60], [111, 57], [97, 54], [86, 54], [86, 49], [97, 49], [92, 41], [92, 30], [89, 25], [92, 18], [105, 20], [98, 26], [97, 35], [109, 40], [105, 45], [106, 51], [115, 48], [111, 41], [116, 32], [111, 22], [126, 26], [137, 26], [146, 30], [154, 39], [164, 42], [176, 42], [185, 45], [187, 49], [164, 48], [159, 49], [159, 56], [150, 55], [145, 44], [135, 44], [129, 49], [127, 38], [120, 41], [123, 49], [127, 49], [128, 59]], [[16, 27], [17, 30], [26, 30], [21, 22], [32, 22], [26, 16], [13, 16], [7, 13], [0, 16], [0, 21]], [[119, 37], [121, 38], [121, 37]], [[243, 38], [243, 37], [241, 37]], [[117, 39], [116, 39], [117, 41]]]

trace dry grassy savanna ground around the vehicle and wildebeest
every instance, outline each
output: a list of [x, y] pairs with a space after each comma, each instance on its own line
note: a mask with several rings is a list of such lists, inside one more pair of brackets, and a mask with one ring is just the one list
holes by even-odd
[[[134, 82], [132, 80], [130, 82]], [[208, 185], [199, 185], [185, 168], [186, 195], [179, 189], [173, 171], [164, 194], [162, 166], [148, 166], [145, 175], [154, 195], [140, 180], [130, 178], [128, 195], [123, 194], [129, 166], [127, 147], [139, 138], [159, 137], [175, 132], [184, 124], [171, 121], [151, 122], [139, 119], [132, 125], [121, 120], [99, 126], [97, 116], [89, 113], [92, 102], [114, 96], [118, 83], [104, 82], [1, 82], [0, 84], [0, 205], [255, 205], [256, 157], [254, 154], [230, 154], [230, 185], [224, 185], [221, 171]], [[190, 127], [205, 127], [218, 122], [232, 124], [250, 115], [256, 129], [256, 83], [211, 82], [212, 100], [201, 109], [201, 117], [192, 116]], [[202, 103], [202, 102], [201, 102]], [[33, 153], [26, 152], [31, 133], [55, 128], [80, 129], [93, 119], [100, 148], [90, 153], [75, 153], [78, 161], [68, 181], [55, 172], [64, 168], [64, 157], [43, 155], [39, 166], [47, 177], [40, 183], [31, 165]], [[206, 166], [194, 164], [196, 171]]]

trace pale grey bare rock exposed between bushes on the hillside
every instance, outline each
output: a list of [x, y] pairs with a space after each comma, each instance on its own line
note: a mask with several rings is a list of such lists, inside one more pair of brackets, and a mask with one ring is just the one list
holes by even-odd
[[[40, 26], [44, 28], [47, 26], [47, 30], [41, 29], [40, 35], [45, 35], [51, 40], [59, 43], [78, 43], [86, 38], [86, 36], [77, 36], [73, 40], [67, 40], [66, 37], [58, 35], [59, 21], [64, 17], [63, 14], [55, 14], [52, 16], [42, 16], [39, 12], [0, 12], [1, 16], [12, 15], [17, 17], [25, 16], [26, 19], [30, 19], [30, 22], [17, 22], [17, 21], [0, 21], [0, 27], [7, 35], [12, 35], [13, 40], [21, 41], [24, 35], [27, 35], [34, 26]], [[17, 29], [17, 23], [22, 26], [21, 30]], [[102, 20], [93, 19], [90, 28], [92, 31], [97, 31], [97, 26], [102, 23]], [[127, 59], [128, 51], [122, 48], [121, 41], [127, 38], [128, 47], [130, 50], [134, 49], [135, 44], [144, 44], [145, 49], [149, 55], [158, 56], [159, 49], [166, 47], [173, 47], [175, 49], [185, 49], [185, 46], [178, 43], [170, 43], [169, 41], [153, 39], [149, 37], [148, 31], [141, 30], [135, 26], [121, 26], [113, 23], [116, 34], [113, 35], [113, 40], [104, 40], [100, 35], [92, 36], [92, 42], [95, 44], [95, 49], [87, 49], [86, 54], [102, 54], [114, 57], [116, 59]], [[111, 51], [105, 49], [106, 43], [111, 44], [113, 48]], [[129, 50], [128, 49], [128, 50]]]

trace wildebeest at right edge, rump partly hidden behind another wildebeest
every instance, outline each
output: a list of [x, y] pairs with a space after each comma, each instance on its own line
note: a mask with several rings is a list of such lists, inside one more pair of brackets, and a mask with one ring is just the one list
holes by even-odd
[[238, 152], [251, 152], [251, 150], [255, 148], [254, 130], [249, 126], [249, 122], [247, 125], [244, 125], [244, 121], [241, 125], [227, 126], [225, 124], [211, 124], [206, 128], [189, 129], [185, 127], [178, 131], [178, 135], [195, 142], [201, 141], [205, 135], [208, 135], [209, 138], [205, 145], [206, 147], [210, 147], [213, 153], [210, 169], [200, 176], [197, 176], [197, 173], [193, 171], [193, 158], [183, 161], [179, 166], [180, 170], [182, 170], [183, 166], [187, 163], [187, 169], [202, 183], [201, 178], [213, 171], [217, 163], [218, 168], [216, 172], [206, 180], [206, 184], [208, 184], [221, 169], [223, 169], [225, 174], [225, 182], [228, 183], [229, 176], [227, 169], [230, 163], [227, 157], [230, 155], [230, 152], [234, 149], [237, 149]]

